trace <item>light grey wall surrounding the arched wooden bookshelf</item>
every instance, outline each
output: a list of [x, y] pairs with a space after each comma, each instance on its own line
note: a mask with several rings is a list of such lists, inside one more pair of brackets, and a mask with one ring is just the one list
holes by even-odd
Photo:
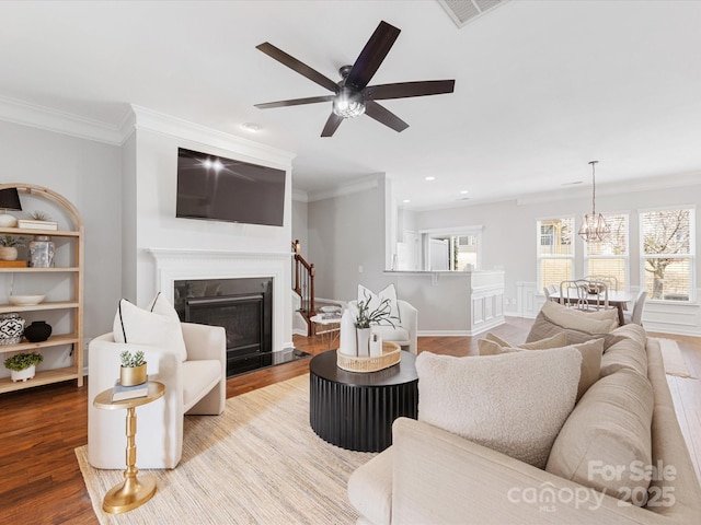
[[[78, 209], [85, 231], [84, 336], [112, 330], [122, 289], [119, 147], [0, 121], [0, 158], [3, 183], [47, 187]], [[43, 366], [60, 364], [44, 354]]]

